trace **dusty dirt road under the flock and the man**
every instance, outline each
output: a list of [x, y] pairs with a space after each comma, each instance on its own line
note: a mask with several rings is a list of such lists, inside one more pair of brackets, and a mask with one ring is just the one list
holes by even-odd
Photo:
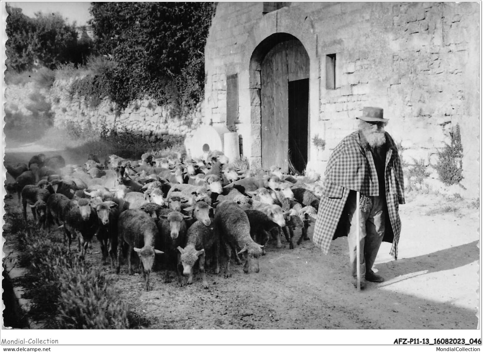
[[[14, 147], [5, 150], [5, 161], [25, 162], [42, 151], [61, 153], [68, 163], [85, 162], [35, 144]], [[15, 198], [5, 206], [20, 212]], [[399, 259], [393, 260], [391, 245], [383, 243], [375, 271], [385, 282], [368, 283], [360, 292], [349, 276], [346, 237], [333, 241], [328, 255], [311, 241], [295, 249], [269, 242], [259, 273], [244, 274], [235, 264], [232, 277], [225, 278], [223, 270], [215, 275], [209, 269], [208, 289], [198, 274], [192, 285], [179, 287], [175, 272], [165, 284], [158, 271], [151, 275], [152, 290], [145, 292], [142, 276], [128, 275], [124, 264], [117, 290], [149, 321], [149, 329], [476, 329], [479, 215], [469, 201], [408, 194], [400, 206]], [[311, 238], [312, 231], [313, 225]], [[100, 258], [99, 243], [93, 243], [87, 265], [101, 265]]]

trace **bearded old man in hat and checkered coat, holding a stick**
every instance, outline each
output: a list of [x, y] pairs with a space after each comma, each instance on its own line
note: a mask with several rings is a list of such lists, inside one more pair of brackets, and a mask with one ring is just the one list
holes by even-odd
[[[361, 288], [366, 281], [383, 282], [372, 271], [379, 247], [392, 243], [398, 258], [401, 232], [399, 204], [404, 204], [404, 183], [398, 149], [384, 131], [389, 120], [380, 107], [364, 107], [359, 128], [343, 138], [330, 155], [323, 196], [314, 226], [313, 243], [327, 254], [331, 240], [347, 236], [350, 272], [356, 286], [356, 229], [359, 226]], [[356, 192], [360, 192], [356, 224]]]

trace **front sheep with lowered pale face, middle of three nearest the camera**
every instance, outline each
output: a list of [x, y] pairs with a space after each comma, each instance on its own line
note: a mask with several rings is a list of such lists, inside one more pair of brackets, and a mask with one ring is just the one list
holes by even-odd
[[178, 246], [181, 253], [183, 274], [188, 276], [188, 284], [193, 283], [193, 266], [198, 261], [199, 271], [203, 280], [203, 287], [208, 288], [205, 274], [205, 258], [207, 254], [213, 254], [215, 259], [215, 274], [220, 273], [219, 262], [220, 241], [213, 226], [206, 226], [197, 220], [191, 225], [186, 233], [186, 246]]

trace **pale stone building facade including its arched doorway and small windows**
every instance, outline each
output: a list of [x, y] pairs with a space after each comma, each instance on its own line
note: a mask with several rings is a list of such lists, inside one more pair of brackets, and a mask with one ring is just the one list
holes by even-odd
[[434, 167], [458, 126], [461, 189], [476, 194], [479, 6], [219, 2], [205, 48], [203, 122], [233, 127], [256, 167], [319, 172], [364, 106], [384, 108], [409, 164]]

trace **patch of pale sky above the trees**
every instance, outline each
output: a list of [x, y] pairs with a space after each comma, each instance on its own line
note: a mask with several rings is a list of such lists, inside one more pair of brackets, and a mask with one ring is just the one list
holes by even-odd
[[87, 24], [87, 20], [91, 18], [91, 1], [1, 1], [2, 6], [5, 6], [5, 2], [12, 7], [21, 8], [24, 15], [32, 18], [36, 12], [59, 13], [67, 18], [68, 23], [75, 21], [78, 26]]

